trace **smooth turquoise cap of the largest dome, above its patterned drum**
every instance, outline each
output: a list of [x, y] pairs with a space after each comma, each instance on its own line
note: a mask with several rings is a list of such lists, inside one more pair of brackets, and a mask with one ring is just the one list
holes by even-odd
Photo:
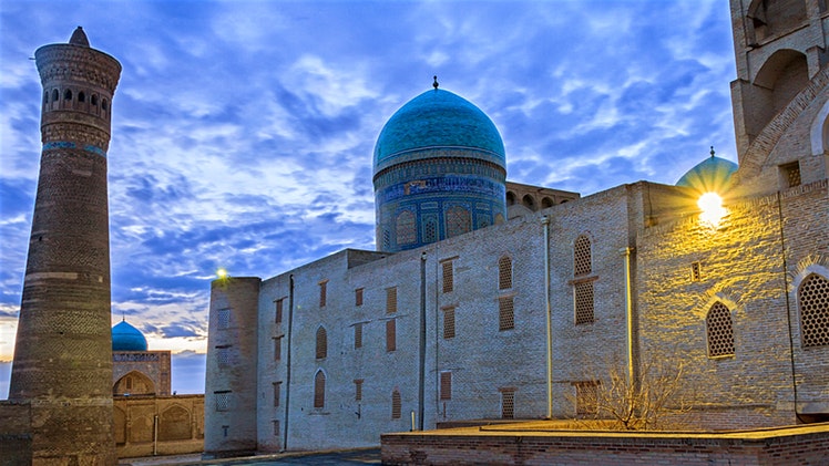
[[475, 105], [449, 91], [427, 91], [400, 107], [375, 146], [375, 174], [396, 163], [420, 159], [429, 148], [474, 149], [477, 158], [505, 167], [504, 145], [492, 121]]

